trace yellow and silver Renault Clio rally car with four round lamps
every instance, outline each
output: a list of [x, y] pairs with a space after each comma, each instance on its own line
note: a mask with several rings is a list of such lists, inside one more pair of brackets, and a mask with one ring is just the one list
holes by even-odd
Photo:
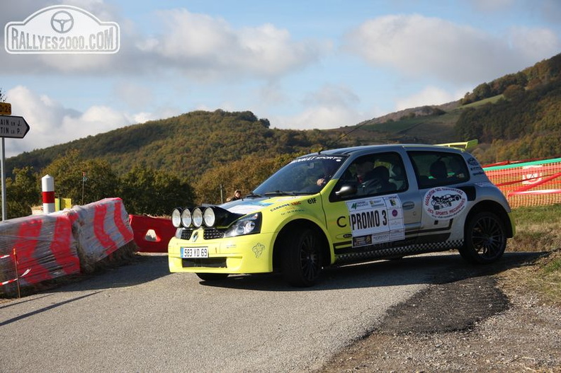
[[375, 145], [320, 151], [280, 168], [242, 200], [178, 208], [171, 272], [202, 280], [280, 271], [314, 285], [329, 265], [458, 249], [502, 257], [511, 209], [467, 151]]

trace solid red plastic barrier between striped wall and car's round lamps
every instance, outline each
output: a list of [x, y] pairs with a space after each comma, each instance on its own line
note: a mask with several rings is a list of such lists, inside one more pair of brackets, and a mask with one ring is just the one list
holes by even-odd
[[138, 251], [143, 253], [167, 253], [167, 246], [176, 229], [170, 219], [129, 215]]

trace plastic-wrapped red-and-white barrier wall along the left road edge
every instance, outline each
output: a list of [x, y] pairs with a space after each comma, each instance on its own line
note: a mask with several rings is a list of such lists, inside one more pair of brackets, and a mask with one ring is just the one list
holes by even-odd
[[6, 220], [0, 224], [0, 286], [79, 273], [132, 239], [120, 198]]

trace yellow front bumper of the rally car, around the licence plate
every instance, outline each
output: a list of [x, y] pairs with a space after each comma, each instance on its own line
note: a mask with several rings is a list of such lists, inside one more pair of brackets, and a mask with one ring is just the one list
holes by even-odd
[[[199, 230], [203, 236], [203, 229]], [[172, 238], [168, 245], [170, 272], [263, 273], [273, 271], [274, 234], [249, 234], [225, 239]], [[208, 258], [181, 258], [181, 248], [208, 248]]]

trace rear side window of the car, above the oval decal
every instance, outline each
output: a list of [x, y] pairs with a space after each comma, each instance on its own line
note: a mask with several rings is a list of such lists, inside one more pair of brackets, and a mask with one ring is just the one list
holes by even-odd
[[469, 173], [460, 154], [445, 151], [409, 151], [419, 189], [463, 183]]

